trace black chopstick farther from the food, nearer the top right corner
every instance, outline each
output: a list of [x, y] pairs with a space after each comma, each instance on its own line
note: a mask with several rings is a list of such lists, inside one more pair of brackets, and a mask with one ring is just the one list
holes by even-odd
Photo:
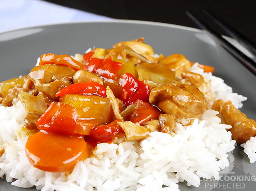
[[223, 21], [220, 17], [210, 12], [209, 10], [204, 10], [204, 13], [209, 16], [209, 18], [212, 19], [216, 24], [218, 24], [224, 31], [226, 31], [230, 37], [235, 38], [256, 57], [256, 44], [254, 42], [250, 41], [247, 37], [243, 36], [240, 32], [232, 28], [228, 23]]

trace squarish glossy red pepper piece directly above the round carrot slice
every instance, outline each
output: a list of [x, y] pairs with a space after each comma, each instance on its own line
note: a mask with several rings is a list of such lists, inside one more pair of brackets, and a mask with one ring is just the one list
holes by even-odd
[[66, 103], [52, 102], [35, 124], [40, 130], [73, 135], [77, 120], [78, 113], [75, 108]]

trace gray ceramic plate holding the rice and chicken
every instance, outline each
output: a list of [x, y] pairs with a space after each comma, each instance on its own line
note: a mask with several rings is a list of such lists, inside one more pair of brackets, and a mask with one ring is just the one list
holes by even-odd
[[[26, 75], [43, 53], [83, 54], [88, 47], [110, 48], [120, 41], [145, 37], [156, 53], [184, 54], [190, 61], [215, 67], [214, 75], [225, 80], [233, 91], [248, 97], [241, 109], [256, 116], [256, 78], [201, 30], [178, 25], [114, 20], [44, 25], [0, 33], [0, 81]], [[180, 190], [255, 190], [256, 164], [250, 164], [240, 146], [230, 153], [230, 166], [220, 181], [201, 181], [199, 188], [179, 183]], [[0, 179], [0, 190], [21, 189]]]

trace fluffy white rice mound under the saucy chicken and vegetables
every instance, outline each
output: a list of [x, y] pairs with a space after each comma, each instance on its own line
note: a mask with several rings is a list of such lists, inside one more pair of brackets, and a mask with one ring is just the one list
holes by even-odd
[[[231, 99], [240, 108], [246, 97], [232, 93], [222, 79], [204, 73], [195, 64], [192, 72], [200, 73], [211, 81], [211, 91], [217, 99]], [[200, 177], [216, 180], [219, 171], [229, 166], [228, 152], [235, 147], [230, 125], [220, 124], [217, 111], [207, 110], [192, 125], [176, 123], [175, 137], [152, 132], [141, 142], [125, 141], [116, 144], [98, 144], [93, 156], [80, 161], [74, 170], [46, 172], [29, 163], [24, 147], [27, 136], [21, 132], [27, 111], [18, 100], [11, 107], [0, 106], [0, 144], [5, 153], [0, 158], [0, 176], [23, 188], [36, 186], [46, 190], [179, 190], [178, 182], [198, 187]], [[243, 145], [252, 157], [255, 138]], [[253, 160], [251, 160], [252, 162]], [[255, 161], [255, 160], [254, 160]], [[165, 187], [163, 187], [165, 185]]]

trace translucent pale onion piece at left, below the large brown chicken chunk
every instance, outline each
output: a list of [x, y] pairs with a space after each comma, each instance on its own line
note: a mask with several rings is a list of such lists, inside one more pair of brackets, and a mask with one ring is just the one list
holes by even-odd
[[33, 96], [22, 91], [18, 94], [18, 98], [24, 108], [28, 111], [35, 111], [38, 114], [42, 115], [47, 110], [47, 105], [42, 94]]

